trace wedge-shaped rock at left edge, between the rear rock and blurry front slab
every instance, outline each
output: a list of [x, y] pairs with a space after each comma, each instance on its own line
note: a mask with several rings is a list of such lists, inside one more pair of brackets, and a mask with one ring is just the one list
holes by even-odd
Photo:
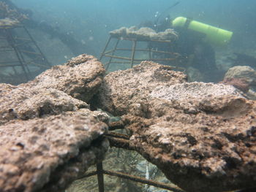
[[0, 90], [0, 125], [13, 119], [28, 120], [88, 108], [85, 102], [53, 88], [0, 84]]

